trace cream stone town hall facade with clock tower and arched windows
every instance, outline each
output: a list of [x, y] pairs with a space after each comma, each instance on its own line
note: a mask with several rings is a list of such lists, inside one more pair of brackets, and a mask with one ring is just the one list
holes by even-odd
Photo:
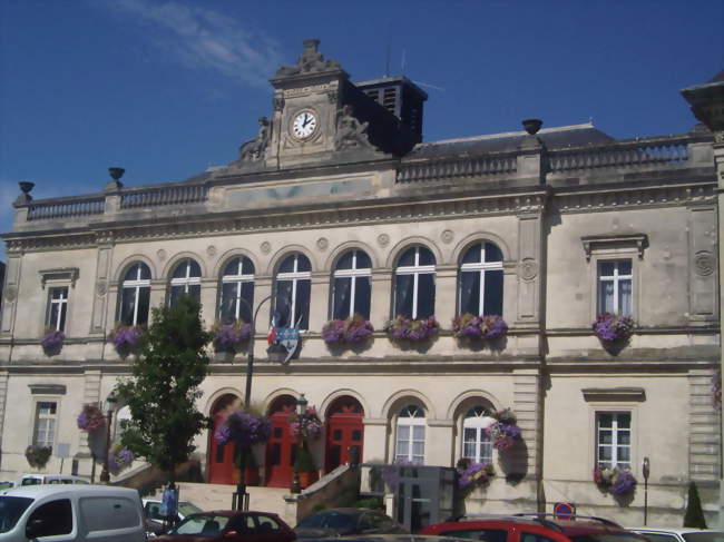
[[[321, 471], [351, 445], [364, 462], [468, 456], [498, 472], [469, 512], [570, 502], [637, 524], [648, 457], [652, 523], [681, 523], [691, 480], [717, 514], [711, 131], [615, 140], [590, 124], [529, 120], [422, 142], [422, 90], [399, 77], [353, 83], [314, 40], [271, 82], [271, 116], [226, 167], [138, 188], [115, 170], [102, 191], [70, 198], [33, 200], [23, 187], [3, 236], [1, 476], [28, 470], [23, 451], [40, 440], [69, 443], [88, 474], [76, 416], [128, 374], [109, 333], [188, 292], [208, 326], [258, 307], [256, 352], [270, 324], [302, 328], [288, 364], [255, 366], [252, 402], [280, 428], [255, 451], [263, 483], [291, 481], [294, 443], [282, 430], [303, 393], [325, 421], [313, 446]], [[627, 341], [594, 334], [605, 311], [633, 319]], [[457, 338], [452, 321], [468, 312], [502, 316], [507, 333]], [[373, 335], [327, 344], [325, 324], [353, 313]], [[391, 339], [398, 315], [434, 316], [440, 329]], [[66, 335], [59, 351], [41, 347], [49, 326]], [[206, 415], [243, 396], [245, 361], [214, 355]], [[503, 408], [522, 440], [499, 452], [483, 430]], [[231, 483], [228, 452], [209, 432], [197, 445], [207, 480]], [[638, 480], [633, 494], [594, 483], [594, 469], [614, 463]]]

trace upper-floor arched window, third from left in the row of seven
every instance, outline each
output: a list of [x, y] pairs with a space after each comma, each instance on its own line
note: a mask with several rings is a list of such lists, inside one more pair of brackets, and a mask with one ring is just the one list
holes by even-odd
[[218, 318], [224, 324], [237, 319], [252, 322], [254, 303], [254, 264], [245, 256], [232, 259], [222, 276]]

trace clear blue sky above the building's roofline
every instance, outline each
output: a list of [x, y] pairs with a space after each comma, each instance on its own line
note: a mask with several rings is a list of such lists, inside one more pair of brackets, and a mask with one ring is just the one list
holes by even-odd
[[425, 140], [529, 117], [629, 138], [693, 126], [678, 90], [724, 67], [722, 21], [721, 0], [0, 0], [0, 230], [18, 180], [55, 197], [234, 160], [305, 38], [353, 80], [389, 57], [427, 85]]

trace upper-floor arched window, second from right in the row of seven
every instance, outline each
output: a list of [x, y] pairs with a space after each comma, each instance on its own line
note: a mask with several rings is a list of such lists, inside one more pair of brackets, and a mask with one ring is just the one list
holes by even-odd
[[427, 318], [434, 314], [434, 256], [424, 247], [408, 248], [394, 272], [394, 315]]

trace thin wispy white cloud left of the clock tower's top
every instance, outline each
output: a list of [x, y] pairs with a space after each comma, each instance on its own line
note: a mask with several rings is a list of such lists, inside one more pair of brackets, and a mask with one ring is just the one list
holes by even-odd
[[283, 63], [276, 41], [224, 13], [177, 1], [115, 0], [105, 3], [155, 29], [147, 39], [194, 70], [214, 70], [243, 85], [266, 85]]

